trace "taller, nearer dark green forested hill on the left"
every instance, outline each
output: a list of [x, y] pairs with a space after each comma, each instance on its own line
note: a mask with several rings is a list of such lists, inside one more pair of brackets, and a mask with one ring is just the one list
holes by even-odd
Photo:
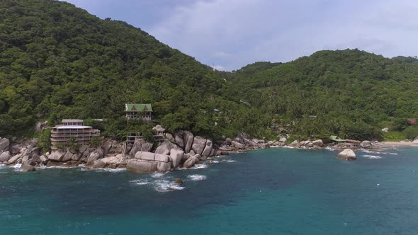
[[170, 130], [220, 133], [213, 109], [242, 108], [217, 96], [223, 86], [210, 67], [127, 23], [62, 1], [0, 1], [0, 136], [62, 118], [106, 118], [103, 133], [123, 136], [125, 103], [152, 103]]

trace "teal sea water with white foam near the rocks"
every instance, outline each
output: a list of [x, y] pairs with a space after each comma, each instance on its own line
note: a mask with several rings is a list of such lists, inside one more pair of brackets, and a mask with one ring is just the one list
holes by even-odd
[[391, 153], [260, 149], [149, 175], [0, 166], [0, 234], [418, 234], [418, 148]]

